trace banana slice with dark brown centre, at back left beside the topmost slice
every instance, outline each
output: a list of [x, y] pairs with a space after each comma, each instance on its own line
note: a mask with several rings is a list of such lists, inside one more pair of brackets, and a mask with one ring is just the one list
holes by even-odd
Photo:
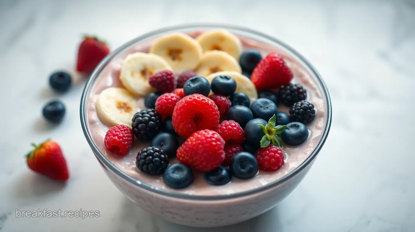
[[202, 57], [198, 41], [183, 33], [173, 33], [159, 38], [150, 53], [167, 60], [175, 72], [194, 69]]

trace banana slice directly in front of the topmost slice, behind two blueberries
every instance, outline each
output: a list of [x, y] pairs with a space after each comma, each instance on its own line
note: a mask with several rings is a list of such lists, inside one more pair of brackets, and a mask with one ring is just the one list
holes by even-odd
[[234, 71], [241, 73], [241, 66], [238, 61], [224, 51], [207, 51], [200, 59], [195, 72], [202, 77], [207, 77], [214, 72]]

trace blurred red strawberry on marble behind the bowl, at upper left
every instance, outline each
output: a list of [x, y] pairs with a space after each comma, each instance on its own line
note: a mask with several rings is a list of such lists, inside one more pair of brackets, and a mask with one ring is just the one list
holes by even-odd
[[85, 36], [79, 45], [76, 70], [84, 73], [92, 72], [108, 53], [110, 48], [104, 41], [97, 37]]

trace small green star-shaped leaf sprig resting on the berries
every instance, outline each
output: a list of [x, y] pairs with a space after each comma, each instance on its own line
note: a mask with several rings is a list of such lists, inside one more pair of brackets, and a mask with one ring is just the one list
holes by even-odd
[[275, 114], [269, 119], [268, 124], [266, 126], [262, 124], [258, 124], [264, 131], [265, 135], [262, 137], [260, 145], [261, 147], [267, 147], [271, 143], [275, 146], [281, 147], [281, 139], [278, 137], [278, 134], [283, 133], [287, 126], [276, 126], [276, 116]]

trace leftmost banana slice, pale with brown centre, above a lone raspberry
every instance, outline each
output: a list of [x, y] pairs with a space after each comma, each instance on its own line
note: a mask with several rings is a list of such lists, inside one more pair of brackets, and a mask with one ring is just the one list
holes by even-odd
[[95, 102], [97, 114], [111, 126], [124, 124], [131, 128], [131, 120], [137, 112], [137, 99], [124, 88], [104, 89]]

